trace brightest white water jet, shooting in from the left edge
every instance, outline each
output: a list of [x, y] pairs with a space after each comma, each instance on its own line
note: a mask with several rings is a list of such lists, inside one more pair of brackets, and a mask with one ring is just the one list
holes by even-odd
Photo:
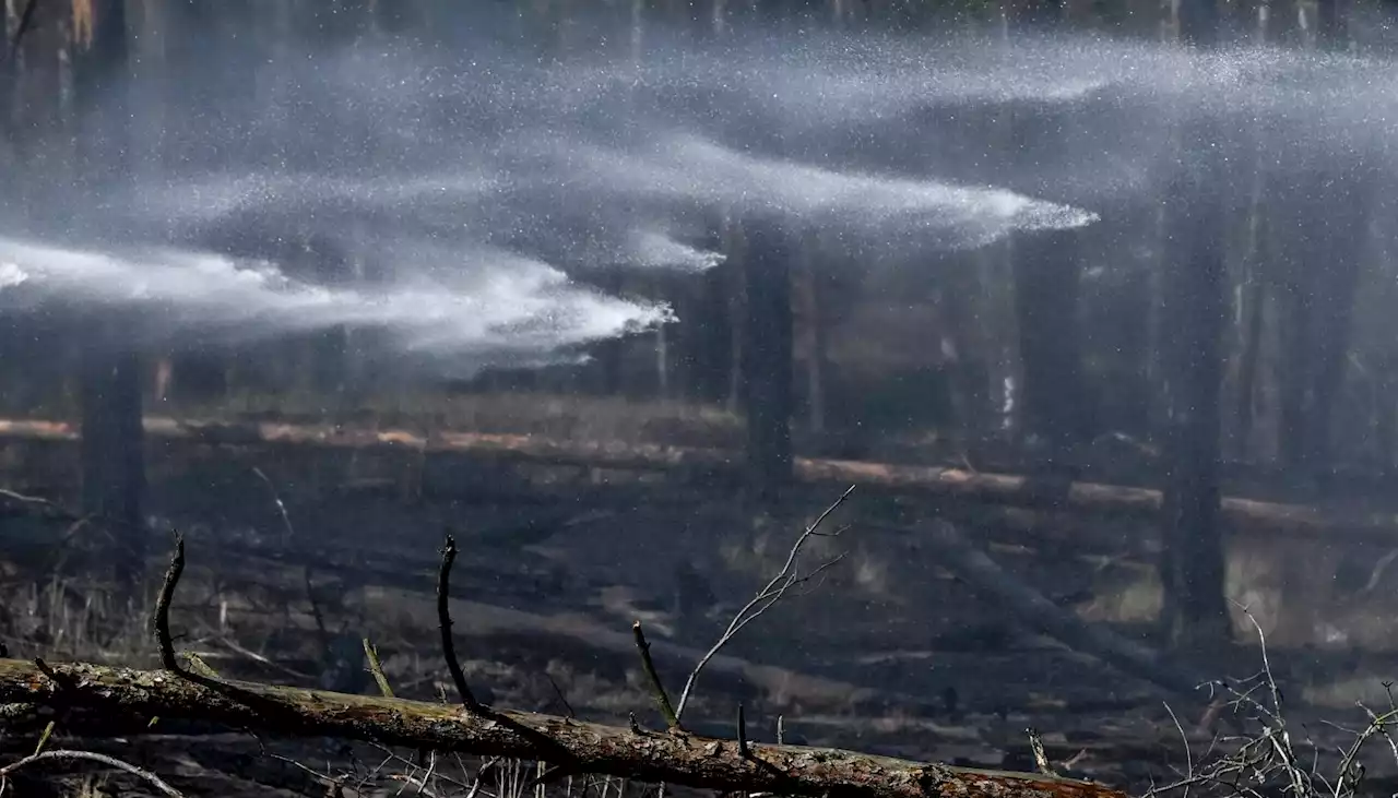
[[179, 345], [274, 338], [341, 324], [382, 330], [410, 352], [542, 358], [671, 320], [668, 307], [604, 296], [530, 259], [475, 253], [474, 270], [350, 289], [294, 280], [270, 263], [186, 250], [110, 254], [0, 238], [0, 310], [60, 300], [138, 310], [133, 334]]

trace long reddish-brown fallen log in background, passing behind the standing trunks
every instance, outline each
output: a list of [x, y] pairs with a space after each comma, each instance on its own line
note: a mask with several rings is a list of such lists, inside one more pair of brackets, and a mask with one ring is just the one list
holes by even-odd
[[[404, 446], [425, 451], [457, 451], [513, 460], [618, 470], [733, 471], [742, 457], [719, 449], [677, 447], [654, 443], [551, 440], [533, 435], [438, 432], [417, 435], [401, 429], [350, 429], [267, 422], [207, 422], [147, 416], [145, 432], [162, 439], [187, 439], [222, 444], [301, 444], [327, 447]], [[48, 421], [0, 419], [0, 439], [31, 437], [74, 440], [75, 425]], [[1083, 513], [1148, 516], [1160, 510], [1159, 491], [1102, 482], [1047, 482], [1014, 474], [988, 474], [963, 468], [896, 465], [856, 460], [798, 457], [795, 475], [804, 482], [858, 484], [909, 493], [930, 493], [973, 502], [1028, 507], [1061, 507]], [[1392, 542], [1398, 517], [1373, 513], [1329, 517], [1303, 505], [1283, 505], [1227, 496], [1223, 514], [1239, 531], [1316, 535], [1345, 532]]]

